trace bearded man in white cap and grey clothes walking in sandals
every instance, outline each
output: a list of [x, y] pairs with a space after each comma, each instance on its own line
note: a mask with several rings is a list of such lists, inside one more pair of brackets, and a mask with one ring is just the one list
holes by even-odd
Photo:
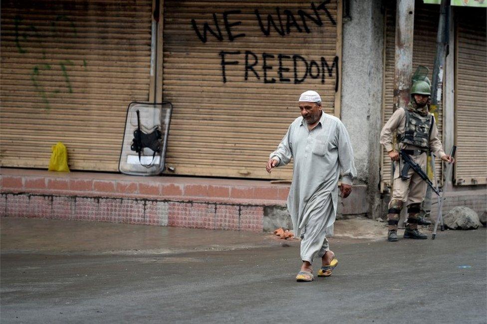
[[287, 198], [294, 235], [301, 237], [303, 264], [297, 281], [313, 281], [312, 264], [322, 260], [318, 276], [328, 277], [338, 264], [328, 246], [326, 229], [333, 225], [341, 174], [341, 196], [352, 191], [357, 175], [348, 132], [336, 117], [325, 114], [321, 97], [306, 91], [299, 97], [301, 117], [291, 123], [286, 135], [270, 154], [266, 170], [286, 165], [293, 159], [292, 185]]

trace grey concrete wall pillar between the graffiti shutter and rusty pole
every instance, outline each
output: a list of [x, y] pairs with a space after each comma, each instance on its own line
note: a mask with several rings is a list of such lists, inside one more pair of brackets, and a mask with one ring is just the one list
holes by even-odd
[[341, 120], [355, 153], [358, 178], [368, 185], [368, 216], [380, 214], [378, 193], [384, 22], [381, 1], [350, 0], [343, 19]]

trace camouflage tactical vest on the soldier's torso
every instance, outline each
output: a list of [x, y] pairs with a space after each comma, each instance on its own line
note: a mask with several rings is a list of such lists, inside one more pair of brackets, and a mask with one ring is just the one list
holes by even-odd
[[433, 115], [421, 116], [407, 109], [406, 131], [404, 135], [398, 134], [398, 142], [414, 145], [418, 148], [429, 150], [430, 134], [433, 128]]

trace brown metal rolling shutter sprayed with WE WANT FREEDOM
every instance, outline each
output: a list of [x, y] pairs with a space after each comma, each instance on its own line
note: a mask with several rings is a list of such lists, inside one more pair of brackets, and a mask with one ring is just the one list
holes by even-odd
[[[303, 0], [165, 1], [163, 98], [174, 106], [167, 164], [175, 167], [175, 173], [290, 178], [291, 166], [276, 169], [271, 175], [265, 172], [264, 166], [289, 124], [300, 116], [297, 107], [299, 94], [305, 90], [316, 90], [322, 96], [325, 111], [337, 113], [337, 68], [331, 67], [341, 51], [341, 13], [337, 14], [341, 3], [338, 7], [336, 1], [326, 4], [329, 16], [324, 10], [319, 11], [322, 26], [308, 20], [310, 33], [298, 32], [295, 26], [291, 26], [289, 34], [280, 36], [271, 25], [270, 34], [265, 36], [254, 10], [260, 13], [266, 29], [267, 15], [272, 14], [276, 19], [277, 7], [280, 8], [284, 29], [285, 9], [293, 13], [302, 30], [298, 10], [313, 14], [310, 1]], [[228, 16], [229, 23], [241, 22], [231, 27], [233, 36], [245, 34], [233, 41], [229, 40], [223, 18], [223, 12], [229, 10], [240, 10]], [[218, 33], [213, 13], [223, 39], [219, 41], [208, 32], [207, 41], [203, 42], [197, 36], [192, 19], [202, 34], [205, 22]], [[237, 65], [225, 65], [227, 82], [223, 81], [221, 51], [240, 51], [240, 54], [225, 56], [226, 61], [238, 61]], [[254, 69], [260, 80], [248, 70], [245, 81], [245, 51], [255, 55], [248, 54], [249, 64], [258, 60]], [[266, 57], [266, 64], [271, 66], [267, 70], [267, 79], [274, 78], [275, 83], [264, 83], [263, 53], [273, 55]], [[320, 75], [317, 79], [308, 76], [304, 82], [294, 84], [294, 63], [290, 58], [283, 58], [283, 68], [290, 69], [283, 78], [290, 78], [291, 82], [280, 82], [278, 54], [298, 54], [308, 64], [312, 64], [311, 60], [320, 62], [320, 58], [324, 57], [332, 70], [331, 75], [325, 71], [324, 83]], [[304, 73], [301, 68], [304, 63], [297, 60], [297, 66], [297, 73]], [[313, 68], [313, 75], [316, 75], [318, 69], [314, 65]], [[321, 63], [318, 68], [321, 69]]]

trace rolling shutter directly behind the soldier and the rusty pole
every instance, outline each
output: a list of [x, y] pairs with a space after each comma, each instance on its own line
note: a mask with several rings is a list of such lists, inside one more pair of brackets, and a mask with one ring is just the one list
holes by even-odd
[[[428, 76], [432, 80], [433, 64], [436, 54], [436, 36], [439, 19], [439, 6], [425, 5], [423, 1], [416, 1], [414, 12], [414, 36], [413, 36], [413, 72], [418, 65], [427, 66], [430, 69]], [[382, 125], [392, 116], [394, 93], [394, 51], [396, 32], [396, 7], [393, 1], [387, 2], [385, 22], [384, 44], [384, 92], [382, 108]], [[443, 113], [442, 105], [438, 107], [437, 127], [442, 140]], [[381, 188], [389, 186], [391, 182], [391, 159], [383, 149], [381, 163]], [[437, 179], [441, 179], [442, 163], [436, 159], [435, 163]]]

